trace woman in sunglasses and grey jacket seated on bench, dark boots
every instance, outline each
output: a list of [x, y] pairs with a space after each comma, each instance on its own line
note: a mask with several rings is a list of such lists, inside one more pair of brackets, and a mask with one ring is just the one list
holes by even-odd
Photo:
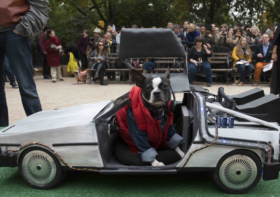
[[104, 73], [105, 69], [108, 68], [109, 54], [104, 49], [103, 42], [99, 42], [97, 46], [98, 48], [91, 52], [88, 59], [92, 61], [92, 68], [97, 69], [93, 78], [95, 80], [99, 78], [100, 85], [107, 86], [108, 84], [104, 82]]

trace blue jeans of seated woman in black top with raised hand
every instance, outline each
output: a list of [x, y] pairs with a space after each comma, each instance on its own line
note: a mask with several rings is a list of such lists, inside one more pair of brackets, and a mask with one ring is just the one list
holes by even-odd
[[[189, 72], [188, 72], [188, 79], [189, 83], [193, 83], [193, 78], [197, 73], [197, 66], [194, 63], [188, 64]], [[202, 70], [206, 75], [207, 83], [212, 83], [212, 70], [211, 65], [209, 62], [202, 63]]]

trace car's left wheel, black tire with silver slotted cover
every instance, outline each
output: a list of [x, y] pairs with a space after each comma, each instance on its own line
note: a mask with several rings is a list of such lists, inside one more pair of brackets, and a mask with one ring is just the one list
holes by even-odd
[[51, 188], [60, 183], [66, 175], [58, 158], [40, 147], [23, 151], [18, 160], [18, 168], [21, 177], [37, 189]]

